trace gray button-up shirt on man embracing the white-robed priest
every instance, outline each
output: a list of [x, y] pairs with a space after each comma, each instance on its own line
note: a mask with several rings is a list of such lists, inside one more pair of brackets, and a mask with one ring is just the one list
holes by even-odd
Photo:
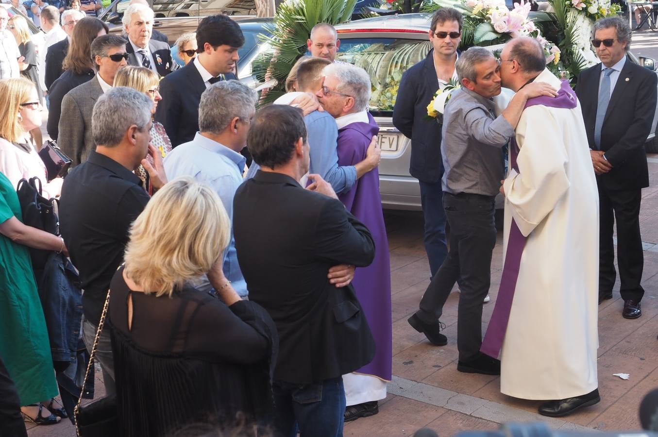
[[445, 105], [441, 155], [443, 191], [496, 195], [505, 176], [502, 147], [514, 128], [492, 100], [461, 88]]

